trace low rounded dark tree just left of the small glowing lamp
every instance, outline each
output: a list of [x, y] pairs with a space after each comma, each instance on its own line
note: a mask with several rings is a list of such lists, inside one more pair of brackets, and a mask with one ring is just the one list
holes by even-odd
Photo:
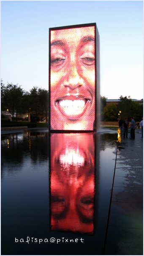
[[117, 120], [117, 106], [113, 103], [106, 105], [103, 110], [104, 121], [116, 121]]

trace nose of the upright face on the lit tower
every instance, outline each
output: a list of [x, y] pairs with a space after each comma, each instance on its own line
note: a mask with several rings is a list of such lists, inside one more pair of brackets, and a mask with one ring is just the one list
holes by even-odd
[[80, 86], [84, 85], [83, 78], [80, 77], [80, 75], [78, 74], [76, 65], [73, 65], [68, 70], [63, 85], [70, 87], [72, 90], [76, 89], [77, 87], [80, 87]]

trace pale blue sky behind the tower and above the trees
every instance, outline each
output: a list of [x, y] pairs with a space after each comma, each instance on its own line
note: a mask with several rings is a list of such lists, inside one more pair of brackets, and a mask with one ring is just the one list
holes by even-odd
[[101, 96], [143, 98], [143, 1], [1, 1], [3, 83], [48, 89], [49, 28], [96, 22]]

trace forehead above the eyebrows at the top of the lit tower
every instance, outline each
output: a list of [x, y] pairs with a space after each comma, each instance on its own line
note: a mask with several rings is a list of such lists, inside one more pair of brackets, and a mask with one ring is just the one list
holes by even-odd
[[51, 42], [54, 40], [77, 41], [87, 36], [95, 37], [94, 26], [51, 31]]

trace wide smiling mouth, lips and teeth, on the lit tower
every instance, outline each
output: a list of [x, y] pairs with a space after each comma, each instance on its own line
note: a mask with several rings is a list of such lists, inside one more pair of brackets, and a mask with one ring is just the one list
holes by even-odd
[[90, 98], [81, 95], [65, 96], [55, 101], [55, 106], [68, 118], [68, 120], [76, 120], [81, 117], [90, 105]]

